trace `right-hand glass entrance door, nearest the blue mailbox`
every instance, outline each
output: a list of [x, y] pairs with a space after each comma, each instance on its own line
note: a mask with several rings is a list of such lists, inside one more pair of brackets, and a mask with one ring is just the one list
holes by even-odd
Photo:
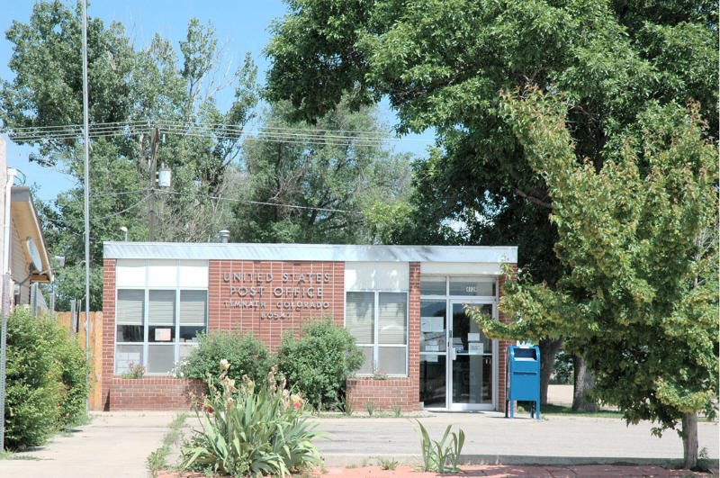
[[[450, 410], [491, 410], [494, 401], [495, 350], [492, 340], [464, 311], [466, 301], [450, 301], [448, 380]], [[493, 313], [491, 303], [477, 304]]]

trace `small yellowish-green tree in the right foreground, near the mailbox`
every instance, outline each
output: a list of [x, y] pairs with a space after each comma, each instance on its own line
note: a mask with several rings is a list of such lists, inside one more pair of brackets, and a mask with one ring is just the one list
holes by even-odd
[[[595, 373], [591, 394], [628, 423], [681, 424], [685, 466], [698, 462], [698, 412], [718, 393], [718, 155], [698, 104], [658, 107], [638, 122], [643, 140], [602, 167], [578, 164], [568, 105], [553, 88], [503, 95], [530, 167], [545, 176], [571, 272], [557, 288], [509, 283], [509, 326], [473, 312], [486, 333], [564, 330]], [[615, 139], [619, 140], [619, 139]], [[643, 155], [637, 153], [643, 151]], [[515, 329], [515, 330], [513, 330]]]

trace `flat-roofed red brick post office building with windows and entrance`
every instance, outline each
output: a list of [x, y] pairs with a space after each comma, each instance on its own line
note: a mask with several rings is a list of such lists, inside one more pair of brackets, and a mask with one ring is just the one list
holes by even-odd
[[[198, 332], [252, 332], [274, 350], [309, 320], [346, 327], [365, 355], [356, 408], [503, 410], [505, 350], [464, 313], [497, 309], [515, 247], [105, 242], [105, 410], [187, 406], [172, 378]], [[130, 363], [142, 379], [123, 379]], [[379, 380], [387, 375], [387, 379]]]

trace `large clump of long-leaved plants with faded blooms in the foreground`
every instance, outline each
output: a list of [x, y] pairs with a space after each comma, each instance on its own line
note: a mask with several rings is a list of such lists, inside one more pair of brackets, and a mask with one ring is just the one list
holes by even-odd
[[220, 362], [220, 389], [208, 374], [209, 394], [196, 412], [202, 429], [182, 449], [184, 470], [230, 476], [282, 475], [320, 464], [311, 439], [318, 437], [307, 422], [305, 401], [285, 388], [273, 367], [266, 383], [247, 375], [240, 388], [228, 376], [231, 365]]

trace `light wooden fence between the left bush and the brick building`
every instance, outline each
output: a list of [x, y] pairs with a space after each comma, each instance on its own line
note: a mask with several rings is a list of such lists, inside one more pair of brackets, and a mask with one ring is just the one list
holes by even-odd
[[[79, 327], [77, 315], [75, 314], [75, 324], [70, 312], [55, 312], [55, 320], [80, 342], [80, 347], [85, 348], [85, 312], [79, 314]], [[90, 336], [90, 364], [92, 365], [90, 374], [90, 410], [102, 410], [103, 312], [90, 312], [88, 332]]]

